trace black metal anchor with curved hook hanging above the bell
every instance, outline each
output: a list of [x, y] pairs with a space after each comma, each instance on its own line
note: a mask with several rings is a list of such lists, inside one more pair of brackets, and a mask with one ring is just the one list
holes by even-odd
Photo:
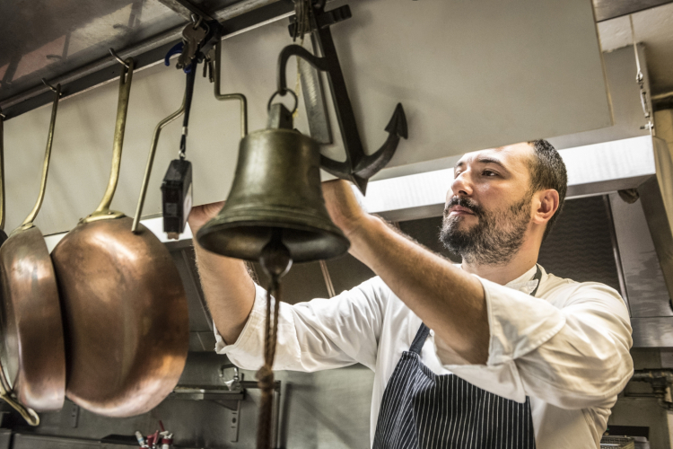
[[330, 25], [350, 18], [351, 11], [346, 4], [345, 6], [326, 12], [323, 9], [324, 5], [324, 2], [314, 4], [311, 17], [311, 28], [315, 33], [316, 41], [323, 57], [316, 57], [299, 45], [289, 45], [283, 48], [278, 57], [278, 92], [287, 92], [285, 67], [290, 57], [301, 57], [310, 66], [328, 74], [332, 101], [337, 112], [339, 128], [341, 129], [341, 136], [344, 141], [346, 160], [342, 163], [329, 159], [325, 155], [320, 155], [320, 165], [323, 170], [338, 178], [353, 181], [364, 194], [369, 178], [389, 163], [393, 154], [395, 154], [400, 137], [407, 138], [406, 115], [402, 104], [398, 103], [386, 127], [386, 131], [389, 133], [388, 139], [375, 153], [370, 155], [364, 154], [363, 143], [360, 140], [357, 123], [355, 122], [353, 106], [348, 97], [344, 74], [339, 65], [337, 48], [334, 46], [332, 33], [329, 31]]

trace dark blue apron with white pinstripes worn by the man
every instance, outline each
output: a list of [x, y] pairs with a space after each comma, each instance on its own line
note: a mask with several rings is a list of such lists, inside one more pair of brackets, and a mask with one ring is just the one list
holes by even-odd
[[[538, 286], [541, 277], [538, 267]], [[534, 449], [529, 398], [511, 401], [455, 374], [434, 374], [420, 356], [429, 333], [421, 324], [390, 377], [373, 449]]]

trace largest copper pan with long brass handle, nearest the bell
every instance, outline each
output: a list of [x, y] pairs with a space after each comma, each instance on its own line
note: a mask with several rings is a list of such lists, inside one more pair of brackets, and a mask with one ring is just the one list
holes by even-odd
[[109, 209], [133, 59], [126, 64], [108, 189], [51, 253], [66, 330], [66, 396], [108, 417], [158, 405], [178, 383], [188, 351], [187, 298], [169, 251], [143, 225], [132, 233], [132, 219]]

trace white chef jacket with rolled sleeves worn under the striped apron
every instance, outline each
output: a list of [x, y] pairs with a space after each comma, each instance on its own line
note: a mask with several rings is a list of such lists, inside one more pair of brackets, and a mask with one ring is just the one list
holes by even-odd
[[[633, 374], [631, 325], [613, 289], [578, 283], [542, 269], [537, 297], [529, 293], [536, 267], [506, 286], [477, 277], [485, 291], [491, 338], [485, 365], [470, 365], [435, 339], [431, 330], [421, 360], [435, 374], [456, 374], [513, 401], [530, 397], [538, 449], [595, 449], [610, 409]], [[215, 351], [243, 369], [263, 365], [266, 291], [239, 339], [225, 345], [215, 330]], [[380, 401], [421, 319], [380, 277], [331, 299], [281, 303], [275, 370], [318, 371], [363, 364], [374, 371], [371, 442]]]

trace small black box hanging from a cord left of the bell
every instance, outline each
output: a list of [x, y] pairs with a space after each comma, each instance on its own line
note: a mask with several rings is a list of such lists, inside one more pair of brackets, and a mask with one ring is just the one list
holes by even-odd
[[174, 159], [162, 182], [163, 232], [169, 239], [177, 240], [185, 231], [192, 204], [192, 164]]

